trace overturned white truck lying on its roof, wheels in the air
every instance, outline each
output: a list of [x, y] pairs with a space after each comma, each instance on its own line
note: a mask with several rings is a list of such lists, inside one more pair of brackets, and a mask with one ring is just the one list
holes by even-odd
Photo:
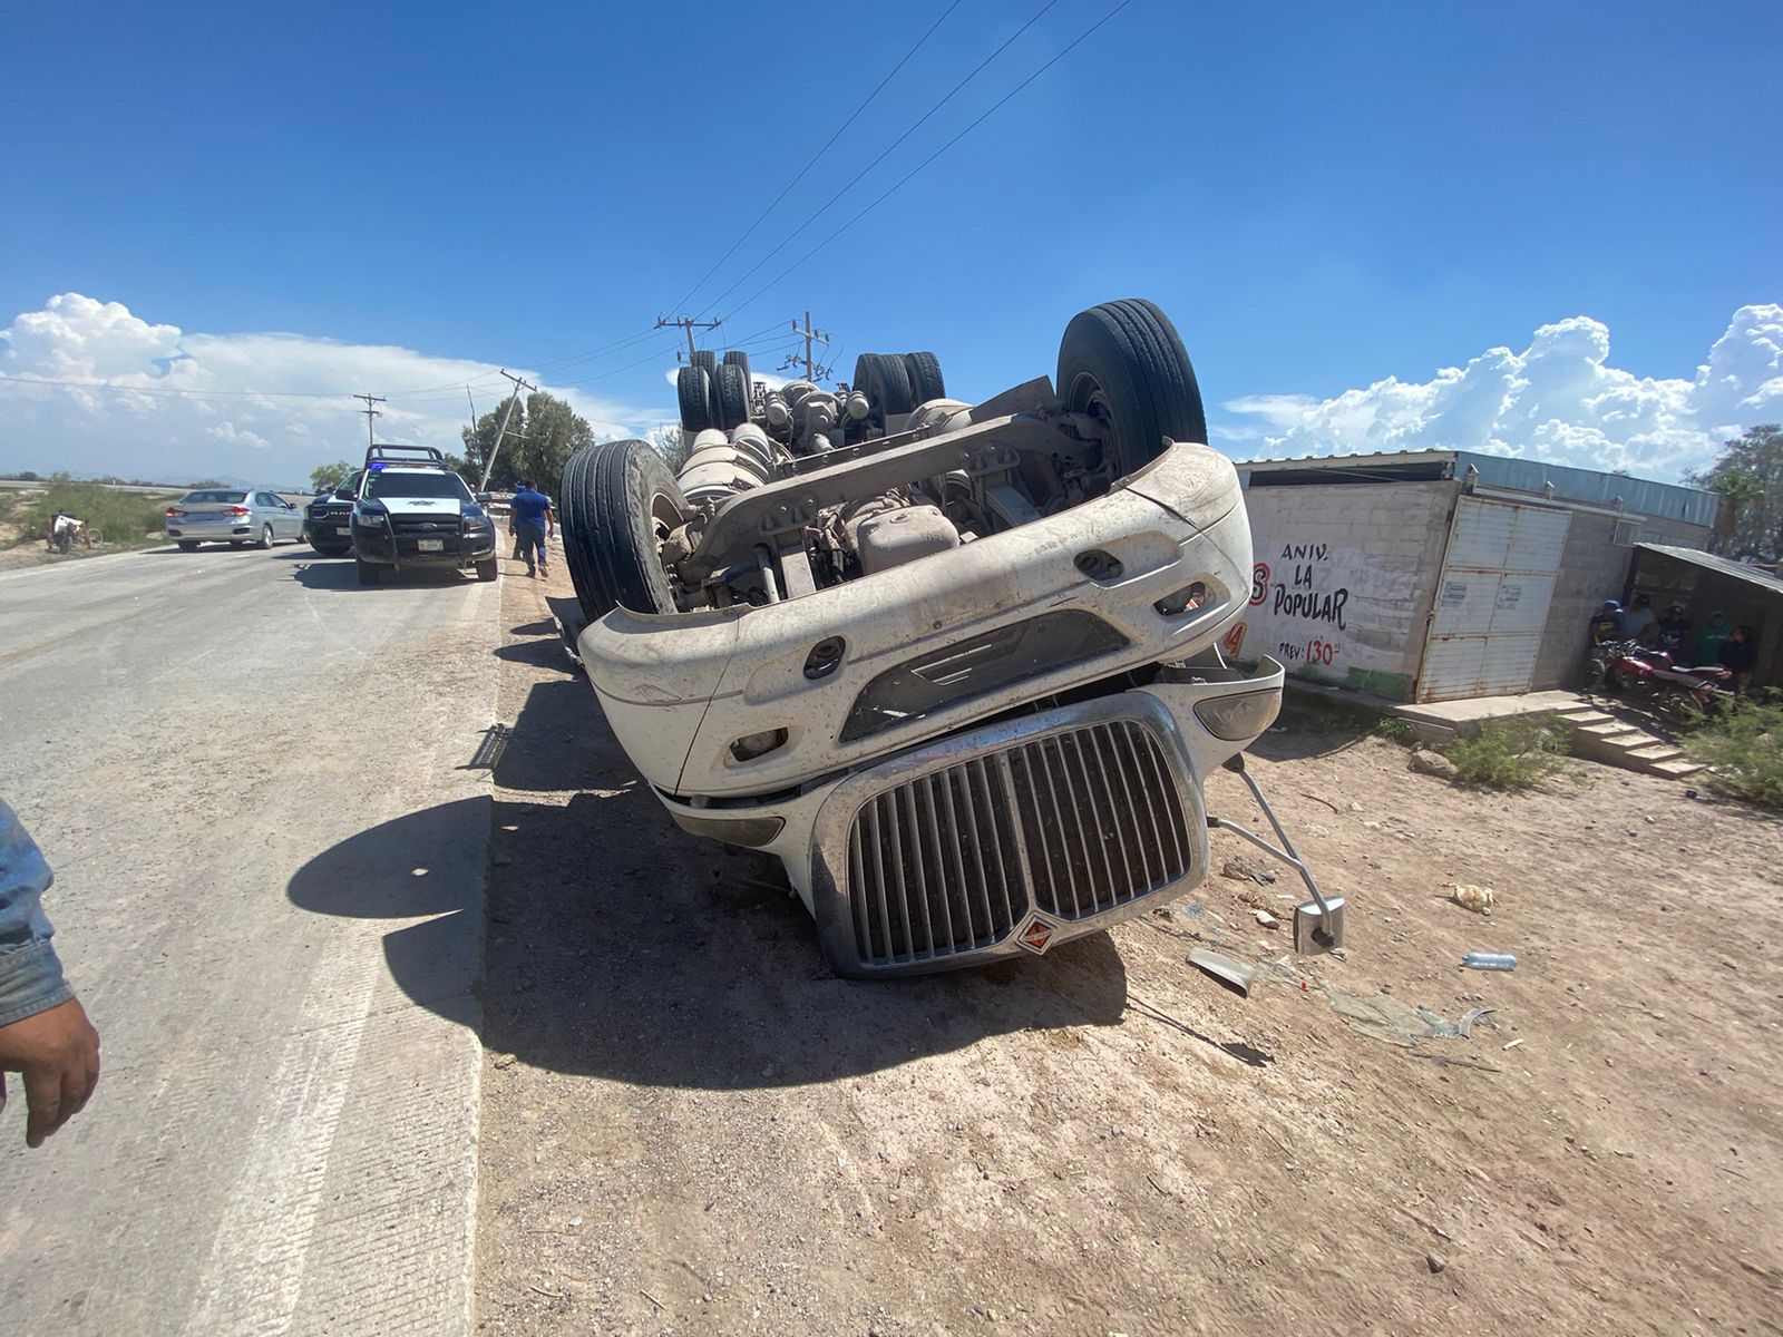
[[[710, 376], [683, 371], [683, 421]], [[567, 465], [578, 649], [633, 765], [683, 829], [783, 859], [842, 975], [1038, 954], [1180, 897], [1218, 822], [1202, 779], [1243, 770], [1282, 667], [1218, 651], [1250, 526], [1175, 328], [1095, 307], [1056, 381], [977, 406], [929, 353], [854, 380], [731, 383], [678, 476], [644, 442]], [[1255, 843], [1305, 875], [1277, 833]], [[1296, 941], [1332, 947], [1341, 902], [1307, 882]]]

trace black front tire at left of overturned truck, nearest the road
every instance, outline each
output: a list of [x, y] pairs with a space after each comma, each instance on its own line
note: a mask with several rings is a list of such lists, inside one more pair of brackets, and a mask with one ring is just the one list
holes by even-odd
[[563, 465], [563, 554], [590, 622], [613, 608], [674, 613], [658, 544], [686, 519], [663, 456], [642, 440], [583, 446]]

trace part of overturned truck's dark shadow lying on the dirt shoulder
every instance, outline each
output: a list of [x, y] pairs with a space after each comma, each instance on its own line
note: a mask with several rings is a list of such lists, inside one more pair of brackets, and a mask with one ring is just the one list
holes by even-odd
[[1118, 1025], [1127, 1005], [1107, 936], [990, 970], [836, 979], [777, 859], [686, 836], [629, 775], [567, 806], [497, 802], [496, 824], [483, 1043], [537, 1068], [799, 1086], [1011, 1030]]

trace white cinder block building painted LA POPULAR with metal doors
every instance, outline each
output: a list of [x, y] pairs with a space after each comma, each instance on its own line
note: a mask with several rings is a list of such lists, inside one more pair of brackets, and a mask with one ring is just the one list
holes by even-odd
[[1237, 471], [1257, 565], [1227, 649], [1389, 701], [1573, 686], [1590, 615], [1630, 594], [1637, 544], [1701, 549], [1719, 503], [1469, 451]]

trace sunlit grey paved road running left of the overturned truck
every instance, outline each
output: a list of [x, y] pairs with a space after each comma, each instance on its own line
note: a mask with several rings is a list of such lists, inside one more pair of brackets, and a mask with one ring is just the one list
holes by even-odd
[[0, 793], [105, 1064], [41, 1152], [0, 1114], [7, 1332], [469, 1330], [497, 588], [0, 576]]

